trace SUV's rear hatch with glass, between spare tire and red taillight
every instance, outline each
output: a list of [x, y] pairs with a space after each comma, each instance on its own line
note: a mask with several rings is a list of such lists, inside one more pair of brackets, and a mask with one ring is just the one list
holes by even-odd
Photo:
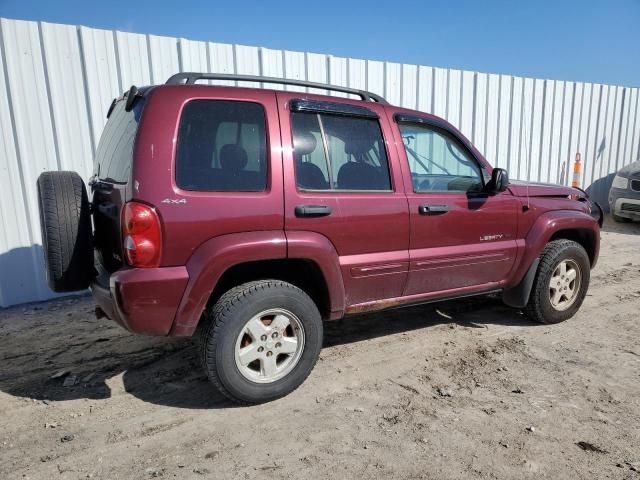
[[131, 196], [133, 149], [144, 100], [139, 98], [131, 111], [126, 111], [125, 104], [126, 99], [120, 98], [111, 109], [89, 182], [99, 274], [114, 272], [124, 265], [121, 213]]

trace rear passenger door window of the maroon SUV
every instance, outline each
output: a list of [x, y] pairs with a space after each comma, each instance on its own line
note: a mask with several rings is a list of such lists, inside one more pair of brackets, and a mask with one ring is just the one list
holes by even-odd
[[292, 113], [296, 182], [302, 190], [391, 190], [377, 120]]

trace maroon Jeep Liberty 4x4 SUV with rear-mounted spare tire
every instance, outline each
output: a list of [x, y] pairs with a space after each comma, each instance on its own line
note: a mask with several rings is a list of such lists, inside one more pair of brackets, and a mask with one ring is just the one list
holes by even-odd
[[[343, 96], [195, 84], [220, 79]], [[446, 121], [369, 92], [183, 73], [108, 117], [90, 201], [76, 173], [38, 180], [49, 284], [90, 287], [133, 332], [197, 334], [237, 402], [298, 387], [323, 320], [490, 292], [566, 320], [598, 258], [584, 192], [509, 183]]]

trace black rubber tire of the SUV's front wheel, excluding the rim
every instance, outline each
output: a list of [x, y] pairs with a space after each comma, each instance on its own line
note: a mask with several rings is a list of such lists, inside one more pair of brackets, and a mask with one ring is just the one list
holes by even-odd
[[[557, 310], [551, 304], [550, 281], [556, 267], [564, 260], [573, 261], [579, 267], [580, 286], [573, 303], [565, 310]], [[591, 262], [582, 245], [564, 239], [549, 242], [542, 252], [525, 313], [532, 320], [545, 324], [560, 323], [573, 317], [587, 294], [590, 275]]]

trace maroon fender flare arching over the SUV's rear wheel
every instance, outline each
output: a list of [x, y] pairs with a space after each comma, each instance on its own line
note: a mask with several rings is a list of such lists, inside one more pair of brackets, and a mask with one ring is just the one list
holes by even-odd
[[302, 233], [293, 232], [292, 238], [282, 230], [234, 233], [198, 247], [187, 262], [189, 282], [170, 335], [193, 335], [208, 304], [233, 286], [263, 279], [292, 283], [316, 302], [324, 319], [341, 318], [344, 287], [337, 253], [326, 237]]

